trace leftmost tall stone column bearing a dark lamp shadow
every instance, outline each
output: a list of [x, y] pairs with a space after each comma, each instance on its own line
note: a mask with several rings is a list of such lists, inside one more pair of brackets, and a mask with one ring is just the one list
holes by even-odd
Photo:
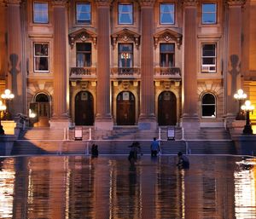
[[10, 89], [15, 95], [14, 100], [9, 104], [12, 118], [19, 112], [25, 113], [24, 80], [26, 80], [26, 72], [21, 71], [23, 34], [21, 32], [20, 2], [20, 0], [7, 1], [7, 60], [9, 69], [6, 89]]

